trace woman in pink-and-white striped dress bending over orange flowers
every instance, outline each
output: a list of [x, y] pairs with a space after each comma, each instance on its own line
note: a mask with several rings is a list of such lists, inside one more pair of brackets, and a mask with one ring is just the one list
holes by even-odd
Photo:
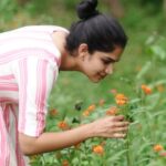
[[0, 34], [0, 165], [28, 165], [24, 155], [64, 148], [90, 137], [123, 138], [123, 116], [44, 133], [46, 103], [59, 71], [79, 71], [92, 82], [113, 73], [126, 45], [117, 21], [96, 10], [97, 0], [77, 6], [80, 21], [31, 25]]

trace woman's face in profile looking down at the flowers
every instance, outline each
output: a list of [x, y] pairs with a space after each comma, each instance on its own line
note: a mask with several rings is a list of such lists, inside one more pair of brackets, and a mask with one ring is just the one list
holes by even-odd
[[82, 72], [92, 82], [97, 83], [113, 73], [113, 64], [120, 60], [122, 52], [123, 49], [120, 46], [108, 53], [96, 51], [90, 54], [87, 52], [82, 61]]

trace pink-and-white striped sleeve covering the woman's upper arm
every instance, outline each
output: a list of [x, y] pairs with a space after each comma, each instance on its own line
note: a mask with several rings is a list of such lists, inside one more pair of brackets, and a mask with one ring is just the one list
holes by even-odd
[[17, 66], [19, 84], [19, 132], [38, 137], [45, 127], [48, 98], [58, 76], [58, 65], [28, 58]]

